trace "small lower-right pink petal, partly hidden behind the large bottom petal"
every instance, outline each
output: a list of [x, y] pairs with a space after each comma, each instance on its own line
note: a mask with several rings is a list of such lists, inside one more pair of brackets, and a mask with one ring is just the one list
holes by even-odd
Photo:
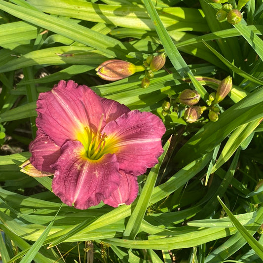
[[113, 191], [109, 198], [103, 200], [105, 204], [113, 207], [131, 204], [137, 197], [139, 190], [137, 177], [125, 174], [121, 170], [119, 172], [121, 174], [119, 187]]

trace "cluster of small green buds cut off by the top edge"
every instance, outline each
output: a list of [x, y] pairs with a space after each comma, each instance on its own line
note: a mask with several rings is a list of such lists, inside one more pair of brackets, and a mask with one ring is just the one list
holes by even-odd
[[[242, 13], [240, 9], [248, 2], [248, 0], [238, 1], [237, 9], [233, 9], [230, 3], [225, 3], [225, 0], [212, 0], [215, 3], [224, 3], [222, 8], [217, 11], [216, 17], [219, 22], [225, 22], [235, 25], [242, 20]], [[245, 3], [243, 3], [245, 2]]]

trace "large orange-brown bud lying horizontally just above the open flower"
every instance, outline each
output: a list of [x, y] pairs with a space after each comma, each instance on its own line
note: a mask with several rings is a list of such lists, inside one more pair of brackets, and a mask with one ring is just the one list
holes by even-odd
[[135, 66], [130, 62], [119, 59], [107, 60], [96, 68], [97, 75], [110, 81], [119, 80], [144, 70], [144, 66]]

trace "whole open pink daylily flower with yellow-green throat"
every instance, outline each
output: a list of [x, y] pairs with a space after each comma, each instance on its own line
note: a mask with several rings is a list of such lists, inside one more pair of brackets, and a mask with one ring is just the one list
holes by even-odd
[[54, 174], [54, 194], [77, 209], [101, 201], [131, 204], [138, 195], [137, 176], [163, 152], [160, 118], [130, 111], [73, 80], [40, 93], [37, 112], [31, 164], [42, 176]]

